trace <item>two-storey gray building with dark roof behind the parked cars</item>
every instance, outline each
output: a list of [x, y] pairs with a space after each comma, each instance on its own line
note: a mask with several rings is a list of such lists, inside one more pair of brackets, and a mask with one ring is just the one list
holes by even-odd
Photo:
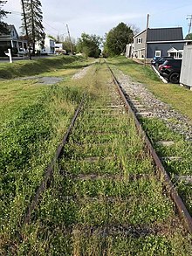
[[142, 59], [145, 58], [147, 51], [147, 59], [154, 56], [173, 56], [181, 59], [186, 42], [183, 39], [182, 27], [147, 29], [134, 36], [132, 55], [134, 58]]

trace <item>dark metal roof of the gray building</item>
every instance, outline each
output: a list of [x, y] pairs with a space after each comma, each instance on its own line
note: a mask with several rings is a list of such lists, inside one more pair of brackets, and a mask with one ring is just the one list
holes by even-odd
[[147, 42], [183, 40], [182, 27], [148, 29]]

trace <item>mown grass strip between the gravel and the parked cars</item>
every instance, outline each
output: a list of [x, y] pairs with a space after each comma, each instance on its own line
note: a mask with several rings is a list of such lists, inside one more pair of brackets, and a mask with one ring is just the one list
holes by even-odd
[[130, 75], [133, 80], [145, 84], [157, 98], [170, 104], [182, 114], [186, 114], [192, 120], [191, 91], [182, 86], [164, 84], [150, 66], [138, 65], [132, 59], [118, 57], [107, 59], [107, 62], [118, 67], [123, 73]]

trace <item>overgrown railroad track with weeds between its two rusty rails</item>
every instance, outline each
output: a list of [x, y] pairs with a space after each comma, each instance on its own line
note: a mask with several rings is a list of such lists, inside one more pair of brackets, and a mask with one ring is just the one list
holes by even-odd
[[161, 239], [163, 247], [188, 237], [183, 225], [192, 232], [189, 212], [118, 81], [103, 84], [104, 65], [24, 216], [22, 243], [29, 245], [22, 232], [38, 229], [50, 255], [147, 255], [138, 253], [140, 243]]

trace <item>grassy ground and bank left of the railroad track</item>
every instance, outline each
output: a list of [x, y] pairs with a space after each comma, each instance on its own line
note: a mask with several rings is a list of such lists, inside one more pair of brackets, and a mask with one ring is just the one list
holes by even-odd
[[70, 78], [87, 64], [85, 59], [58, 57], [0, 65], [6, 79], [35, 74], [64, 78], [54, 86], [35, 79], [0, 82], [0, 248], [17, 231], [82, 98], [85, 88]]

